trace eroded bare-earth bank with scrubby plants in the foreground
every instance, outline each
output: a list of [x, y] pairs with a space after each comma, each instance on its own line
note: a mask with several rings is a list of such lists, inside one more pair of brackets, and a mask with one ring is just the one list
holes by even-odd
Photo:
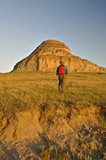
[[62, 104], [0, 113], [0, 159], [105, 159], [105, 109]]

